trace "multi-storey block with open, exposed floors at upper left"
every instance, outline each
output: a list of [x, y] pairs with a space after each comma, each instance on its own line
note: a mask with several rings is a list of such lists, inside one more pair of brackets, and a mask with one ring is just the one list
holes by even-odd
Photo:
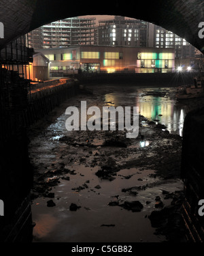
[[96, 18], [65, 18], [28, 33], [32, 48], [57, 48], [94, 44]]

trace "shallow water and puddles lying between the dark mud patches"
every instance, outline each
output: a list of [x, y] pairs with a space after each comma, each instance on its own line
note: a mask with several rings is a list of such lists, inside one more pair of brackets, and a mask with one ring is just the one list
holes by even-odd
[[[90, 88], [92, 90], [92, 88]], [[104, 89], [105, 91], [104, 93]], [[94, 92], [96, 89], [93, 89]], [[171, 203], [165, 199], [163, 190], [169, 193], [182, 190], [180, 179], [160, 180], [154, 176], [154, 169], [131, 167], [120, 169], [112, 181], [101, 180], [95, 173], [99, 170], [97, 165], [91, 165], [96, 156], [111, 156], [106, 149], [101, 149], [99, 137], [93, 139], [95, 147], [86, 145], [82, 148], [76, 144], [59, 141], [63, 136], [73, 139], [76, 133], [68, 132], [65, 128], [65, 109], [67, 106], [80, 108], [80, 101], [87, 100], [91, 106], [139, 106], [139, 114], [156, 123], [164, 124], [171, 134], [182, 136], [184, 117], [193, 108], [195, 103], [177, 102], [175, 88], [133, 87], [116, 88], [114, 86], [97, 87], [97, 96], [79, 95], [64, 102], [59, 108], [38, 123], [31, 131], [30, 157], [35, 168], [35, 175], [58, 171], [63, 165], [74, 172], [74, 175], [50, 175], [48, 181], [59, 177], [58, 184], [50, 188], [54, 193], [52, 200], [55, 205], [47, 206], [48, 197], [40, 196], [33, 199], [32, 216], [35, 227], [33, 229], [33, 242], [163, 242], [165, 236], [156, 235], [155, 228], [151, 226], [148, 215], [155, 210], [155, 197], [160, 196], [165, 205]], [[101, 96], [100, 96], [101, 95]], [[198, 102], [197, 102], [198, 103]], [[196, 103], [196, 104], [197, 104]], [[146, 122], [144, 127], [146, 126]], [[46, 125], [45, 125], [46, 124]], [[164, 129], [165, 130], [165, 129]], [[84, 139], [84, 134], [76, 141]], [[148, 141], [146, 141], [148, 146]], [[120, 154], [123, 149], [114, 149], [112, 154]], [[135, 154], [135, 157], [139, 153]], [[125, 162], [127, 158], [116, 158], [118, 162]], [[100, 158], [97, 158], [97, 160]], [[105, 159], [105, 158], [103, 158]], [[37, 174], [36, 174], [37, 173]], [[69, 173], [70, 174], [70, 173]], [[73, 174], [73, 173], [72, 173]], [[69, 176], [69, 178], [68, 178]], [[66, 179], [67, 177], [67, 179]], [[129, 177], [129, 178], [126, 178]], [[83, 186], [82, 186], [83, 184]], [[86, 186], [84, 185], [86, 184]], [[135, 195], [122, 193], [122, 188], [133, 186], [146, 186], [154, 184], [139, 191]], [[78, 188], [81, 186], [81, 188]], [[110, 201], [135, 201], [143, 204], [141, 212], [132, 212], [119, 206], [109, 206]], [[148, 203], [147, 203], [148, 201]], [[75, 203], [80, 206], [71, 211], [69, 206]]]

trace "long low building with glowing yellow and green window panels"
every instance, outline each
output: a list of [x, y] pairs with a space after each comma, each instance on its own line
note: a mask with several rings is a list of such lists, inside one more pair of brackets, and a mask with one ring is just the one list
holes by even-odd
[[174, 72], [174, 49], [129, 46], [75, 46], [38, 49], [50, 60], [50, 74], [73, 72]]

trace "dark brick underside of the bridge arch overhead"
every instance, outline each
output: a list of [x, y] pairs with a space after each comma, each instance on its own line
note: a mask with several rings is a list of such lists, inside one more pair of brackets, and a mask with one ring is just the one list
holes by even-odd
[[1, 0], [0, 14], [5, 33], [0, 39], [0, 48], [19, 35], [55, 20], [84, 15], [118, 15], [164, 27], [204, 53], [203, 39], [199, 38], [199, 24], [204, 22], [203, 0]]

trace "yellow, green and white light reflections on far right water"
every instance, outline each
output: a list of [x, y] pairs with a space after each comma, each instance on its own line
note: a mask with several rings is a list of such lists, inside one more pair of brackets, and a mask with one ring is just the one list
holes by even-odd
[[182, 136], [187, 107], [185, 104], [177, 104], [175, 89], [141, 88], [131, 94], [107, 94], [105, 101], [114, 102], [114, 106], [139, 106], [140, 115], [164, 124], [169, 132]]

